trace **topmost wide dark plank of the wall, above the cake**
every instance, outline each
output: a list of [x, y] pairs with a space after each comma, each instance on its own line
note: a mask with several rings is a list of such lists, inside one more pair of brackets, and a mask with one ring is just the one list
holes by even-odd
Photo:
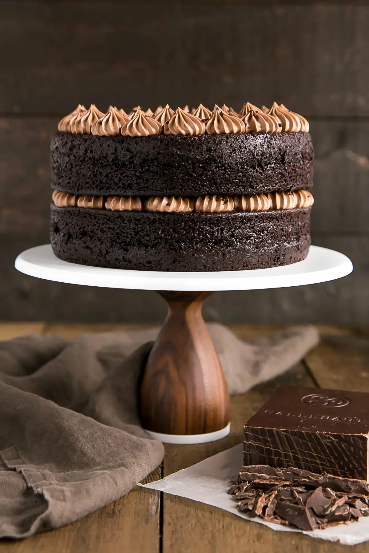
[[139, 17], [134, 2], [51, 6], [0, 3], [1, 112], [278, 100], [306, 115], [369, 114], [367, 6], [148, 2]]

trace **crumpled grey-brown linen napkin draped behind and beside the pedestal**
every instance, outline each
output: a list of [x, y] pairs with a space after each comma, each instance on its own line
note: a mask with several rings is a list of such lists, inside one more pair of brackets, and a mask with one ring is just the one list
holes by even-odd
[[[250, 343], [208, 328], [231, 394], [287, 371], [319, 340], [311, 326]], [[0, 537], [71, 523], [159, 465], [163, 444], [149, 439], [137, 411], [158, 330], [0, 342]]]

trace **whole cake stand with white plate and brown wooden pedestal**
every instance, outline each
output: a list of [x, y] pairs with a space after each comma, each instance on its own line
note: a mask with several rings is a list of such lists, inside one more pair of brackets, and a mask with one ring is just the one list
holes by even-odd
[[141, 378], [141, 421], [150, 436], [163, 442], [200, 444], [230, 432], [227, 384], [202, 319], [202, 302], [215, 291], [335, 280], [351, 273], [352, 263], [342, 253], [311, 246], [303, 261], [271, 269], [209, 273], [106, 269], [65, 262], [45, 244], [19, 254], [15, 268], [62, 283], [155, 290], [167, 300], [168, 316]]

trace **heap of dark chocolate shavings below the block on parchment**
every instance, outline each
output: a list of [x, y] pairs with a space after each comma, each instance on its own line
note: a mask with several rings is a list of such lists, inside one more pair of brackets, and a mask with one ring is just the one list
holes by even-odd
[[274, 524], [310, 531], [369, 515], [368, 484], [360, 480], [252, 466], [242, 467], [232, 484], [228, 493], [237, 509]]

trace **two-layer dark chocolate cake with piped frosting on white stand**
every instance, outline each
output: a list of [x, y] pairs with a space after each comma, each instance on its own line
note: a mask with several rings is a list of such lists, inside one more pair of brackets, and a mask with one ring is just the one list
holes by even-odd
[[79, 106], [51, 142], [51, 244], [73, 263], [276, 267], [310, 246], [313, 145], [284, 106], [240, 113]]

